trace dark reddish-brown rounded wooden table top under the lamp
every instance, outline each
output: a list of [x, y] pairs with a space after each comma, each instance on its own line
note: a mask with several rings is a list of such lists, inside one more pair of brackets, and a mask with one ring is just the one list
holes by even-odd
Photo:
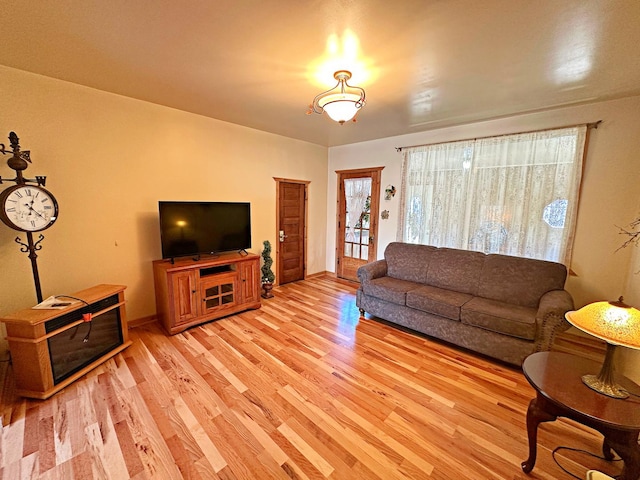
[[[546, 399], [593, 420], [640, 430], [640, 398], [612, 398], [582, 383], [585, 374], [598, 375], [602, 364], [560, 352], [538, 352], [525, 358], [522, 371], [529, 383]], [[616, 375], [627, 391], [640, 395], [640, 387]]]

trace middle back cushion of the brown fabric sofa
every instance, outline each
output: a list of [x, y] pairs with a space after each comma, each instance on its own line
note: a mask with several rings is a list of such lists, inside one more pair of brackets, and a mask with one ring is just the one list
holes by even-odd
[[485, 254], [470, 250], [438, 248], [427, 272], [427, 284], [477, 295]]

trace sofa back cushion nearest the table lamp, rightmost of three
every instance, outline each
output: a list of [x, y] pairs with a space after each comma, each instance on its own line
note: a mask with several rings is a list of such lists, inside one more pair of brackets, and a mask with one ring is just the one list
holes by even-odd
[[487, 255], [478, 295], [501, 302], [537, 307], [551, 290], [562, 290], [567, 267], [561, 263], [507, 255]]

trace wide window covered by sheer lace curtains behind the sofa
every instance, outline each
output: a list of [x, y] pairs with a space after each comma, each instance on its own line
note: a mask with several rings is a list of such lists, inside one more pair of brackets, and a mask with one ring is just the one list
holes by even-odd
[[586, 130], [403, 149], [398, 239], [568, 265]]

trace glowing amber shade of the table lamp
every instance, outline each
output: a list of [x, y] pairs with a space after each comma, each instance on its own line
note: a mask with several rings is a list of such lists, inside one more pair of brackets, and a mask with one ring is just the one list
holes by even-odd
[[624, 347], [640, 349], [640, 311], [618, 302], [595, 302], [567, 312], [574, 327], [594, 337]]

